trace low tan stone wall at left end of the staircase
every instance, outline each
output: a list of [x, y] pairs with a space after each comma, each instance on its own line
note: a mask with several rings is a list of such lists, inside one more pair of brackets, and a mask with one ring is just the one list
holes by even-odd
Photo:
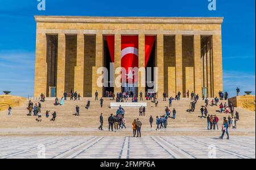
[[22, 106], [27, 98], [20, 96], [11, 95], [0, 95], [0, 111], [8, 109], [9, 105], [11, 107]]

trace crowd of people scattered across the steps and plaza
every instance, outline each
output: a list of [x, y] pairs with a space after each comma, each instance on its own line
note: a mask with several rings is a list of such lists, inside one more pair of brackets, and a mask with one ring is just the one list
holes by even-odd
[[[237, 88], [237, 95], [240, 92], [240, 89]], [[190, 95], [189, 95], [190, 94]], [[200, 106], [200, 118], [207, 118], [207, 130], [218, 130], [218, 122], [219, 118], [216, 114], [208, 114], [208, 106], [218, 106], [220, 108], [220, 114], [225, 113], [225, 114], [230, 114], [227, 115], [228, 118], [224, 117], [224, 122], [222, 123], [221, 130], [222, 130], [222, 135], [220, 138], [222, 139], [224, 134], [226, 133], [228, 135], [229, 139], [229, 133], [228, 133], [228, 128], [237, 128], [237, 121], [240, 120], [239, 118], [239, 113], [236, 111], [234, 113], [234, 106], [232, 105], [231, 102], [226, 102], [223, 100], [228, 99], [228, 93], [227, 92], [219, 92], [219, 98], [216, 96], [214, 97], [211, 101], [209, 101], [208, 97], [202, 96], [202, 99], [204, 100], [204, 106]], [[160, 129], [167, 128], [168, 126], [168, 118], [175, 119], [176, 118], [176, 110], [173, 108], [172, 110], [170, 109], [172, 107], [172, 102], [174, 100], [180, 100], [180, 95], [181, 93], [178, 92], [175, 95], [175, 98], [168, 98], [167, 99], [167, 93], [163, 92], [163, 101], [168, 101], [168, 106], [166, 106], [165, 109], [165, 114], [163, 115], [158, 115], [155, 118], [155, 124], [156, 124], [156, 131]], [[77, 92], [73, 92], [71, 90], [71, 93], [69, 94], [70, 100], [80, 100], [80, 94]], [[187, 110], [189, 113], [193, 113], [196, 110], [196, 104], [197, 101], [199, 101], [199, 94], [195, 94], [194, 92], [189, 93], [187, 91], [187, 94], [185, 95], [187, 98], [191, 99], [189, 109]], [[59, 100], [57, 97], [55, 98], [54, 105], [64, 105], [64, 101], [67, 100], [68, 94], [67, 92], [64, 92], [63, 97]], [[131, 98], [132, 102], [138, 102], [138, 98], [133, 94], [133, 92], [118, 92], [115, 96], [113, 92], [105, 92], [105, 97], [111, 97], [117, 102], [128, 102], [129, 98]], [[146, 100], [151, 100], [152, 103], [155, 104], [155, 107], [158, 106], [158, 99], [156, 98], [156, 93], [145, 93], [143, 96], [142, 92], [139, 92], [139, 101], [143, 101], [143, 98]], [[36, 119], [38, 122], [42, 121], [42, 114], [41, 114], [41, 108], [42, 104], [41, 102], [45, 102], [46, 98], [44, 94], [42, 93], [40, 96], [40, 102], [33, 103], [31, 101], [28, 102], [28, 116], [37, 116], [38, 118]], [[98, 100], [98, 92], [95, 92], [95, 100]], [[223, 102], [222, 102], [223, 101]], [[210, 102], [210, 104], [209, 104]], [[100, 107], [103, 107], [104, 99], [101, 97], [100, 98]], [[87, 101], [86, 109], [90, 109], [90, 100]], [[9, 106], [9, 115], [11, 115], [11, 106]], [[46, 118], [49, 118], [49, 114], [51, 111], [46, 110]], [[80, 116], [80, 107], [76, 105], [75, 107], [75, 115]], [[56, 111], [53, 111], [52, 113], [52, 118], [51, 121], [55, 121], [57, 116]], [[139, 117], [146, 117], [146, 107], [141, 106], [139, 107]], [[149, 123], [150, 127], [153, 127], [154, 123], [154, 118], [152, 115], [149, 117]], [[98, 127], [99, 130], [103, 130], [103, 125], [104, 125], [104, 118], [103, 118], [103, 113], [100, 115], [100, 126]], [[108, 125], [109, 125], [109, 131], [119, 131], [123, 128], [126, 128], [126, 119], [125, 119], [125, 109], [120, 105], [115, 112], [115, 114], [111, 114], [110, 117], [108, 118]], [[141, 136], [141, 127], [142, 127], [142, 122], [139, 120], [139, 118], [134, 119], [132, 123], [132, 128], [133, 128], [133, 136], [140, 137]]]

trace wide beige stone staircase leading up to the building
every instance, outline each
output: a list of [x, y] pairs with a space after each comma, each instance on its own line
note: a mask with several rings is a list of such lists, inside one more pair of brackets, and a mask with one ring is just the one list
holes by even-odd
[[[86, 102], [90, 99], [90, 110], [85, 109]], [[211, 101], [211, 99], [210, 99]], [[32, 101], [34, 103], [39, 101]], [[146, 116], [139, 116], [138, 107], [125, 107], [126, 129], [118, 132], [108, 132], [108, 117], [115, 114], [117, 108], [110, 108], [110, 98], [104, 98], [104, 105], [100, 107], [100, 101], [94, 101], [93, 98], [82, 98], [80, 101], [64, 102], [63, 106], [53, 105], [54, 99], [47, 98], [42, 103], [42, 122], [36, 121], [38, 117], [27, 116], [27, 103], [24, 106], [14, 107], [12, 115], [8, 116], [7, 111], [0, 112], [0, 135], [131, 135], [131, 123], [135, 118], [142, 122], [143, 135], [220, 135], [221, 130], [207, 130], [207, 119], [200, 118], [200, 106], [204, 101], [200, 99], [196, 104], [195, 112], [188, 113], [189, 103], [187, 98], [180, 101], [173, 101], [171, 111], [176, 109], [176, 119], [168, 118], [167, 129], [155, 131], [156, 116], [165, 114], [165, 107], [168, 101], [161, 101], [159, 98], [158, 107], [151, 101], [147, 102]], [[220, 101], [225, 102], [225, 101]], [[80, 116], [75, 116], [76, 105], [80, 107]], [[50, 117], [46, 118], [46, 110], [50, 110]], [[216, 114], [220, 118], [219, 127], [222, 124], [222, 118], [228, 117], [228, 114], [220, 114], [218, 106], [208, 106], [208, 114]], [[51, 113], [56, 111], [56, 121], [50, 121]], [[255, 136], [255, 113], [242, 108], [235, 108], [240, 113], [240, 121], [237, 122], [237, 129], [229, 128], [232, 135], [253, 135]], [[100, 113], [104, 114], [104, 131], [99, 131]], [[150, 128], [150, 115], [154, 118], [153, 128]], [[172, 115], [172, 114], [171, 114]]]

